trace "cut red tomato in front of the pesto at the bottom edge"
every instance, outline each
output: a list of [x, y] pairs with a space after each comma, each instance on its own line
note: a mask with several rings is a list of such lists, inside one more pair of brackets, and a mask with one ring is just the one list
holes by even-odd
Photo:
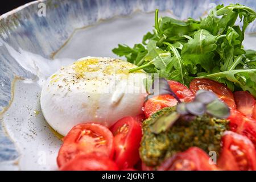
[[211, 171], [216, 165], [209, 163], [209, 156], [199, 147], [190, 147], [163, 162], [159, 171]]

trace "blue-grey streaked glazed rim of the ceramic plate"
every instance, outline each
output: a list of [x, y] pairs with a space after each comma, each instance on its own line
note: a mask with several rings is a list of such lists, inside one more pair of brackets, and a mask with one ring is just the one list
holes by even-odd
[[[46, 17], [38, 16], [38, 5], [42, 2], [46, 4]], [[3, 113], [11, 102], [15, 77], [34, 79], [37, 76], [36, 72], [24, 69], [10, 49], [17, 54], [27, 51], [52, 59], [53, 53], [63, 46], [76, 28], [114, 16], [131, 15], [135, 11], [149, 13], [156, 8], [171, 11], [180, 19], [199, 18], [213, 7], [212, 3], [241, 3], [256, 9], [255, 0], [43, 0], [0, 16], [0, 111]], [[251, 24], [247, 31], [256, 32], [256, 24]], [[18, 156], [13, 142], [0, 125], [0, 166]]]

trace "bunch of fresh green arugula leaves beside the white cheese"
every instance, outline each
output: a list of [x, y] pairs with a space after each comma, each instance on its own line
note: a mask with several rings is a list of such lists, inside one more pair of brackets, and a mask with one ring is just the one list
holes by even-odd
[[[143, 69], [185, 85], [193, 78], [210, 78], [233, 90], [247, 90], [256, 97], [256, 52], [243, 49], [254, 10], [243, 5], [218, 5], [201, 20], [158, 18], [154, 31], [133, 48], [119, 44], [113, 52]], [[242, 26], [236, 24], [240, 19]]]

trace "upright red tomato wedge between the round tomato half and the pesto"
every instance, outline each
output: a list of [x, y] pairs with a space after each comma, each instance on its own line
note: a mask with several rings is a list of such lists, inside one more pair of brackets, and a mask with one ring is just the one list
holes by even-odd
[[137, 118], [125, 117], [110, 129], [114, 135], [114, 160], [120, 169], [131, 168], [139, 161], [141, 125]]

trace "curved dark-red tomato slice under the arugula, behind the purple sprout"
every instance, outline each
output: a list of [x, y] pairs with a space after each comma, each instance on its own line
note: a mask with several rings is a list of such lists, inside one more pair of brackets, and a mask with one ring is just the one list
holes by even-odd
[[219, 82], [207, 78], [196, 78], [191, 81], [189, 88], [193, 94], [196, 94], [197, 90], [209, 90], [210, 92], [214, 92], [220, 100], [224, 101], [231, 109], [236, 109], [233, 93]]

